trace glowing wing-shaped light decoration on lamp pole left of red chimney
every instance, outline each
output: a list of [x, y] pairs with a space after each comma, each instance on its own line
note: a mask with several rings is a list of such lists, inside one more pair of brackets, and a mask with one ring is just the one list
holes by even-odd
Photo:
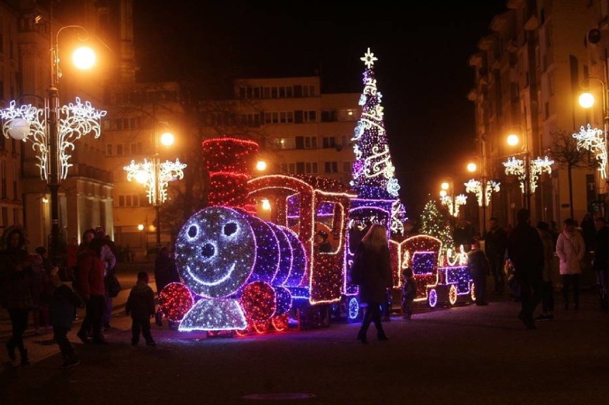
[[163, 204], [167, 201], [167, 185], [169, 181], [184, 179], [186, 164], [176, 161], [164, 161], [158, 166], [152, 161], [144, 159], [143, 162], [131, 161], [129, 166], [124, 166], [127, 171], [127, 181], [135, 180], [144, 184], [150, 204]]

